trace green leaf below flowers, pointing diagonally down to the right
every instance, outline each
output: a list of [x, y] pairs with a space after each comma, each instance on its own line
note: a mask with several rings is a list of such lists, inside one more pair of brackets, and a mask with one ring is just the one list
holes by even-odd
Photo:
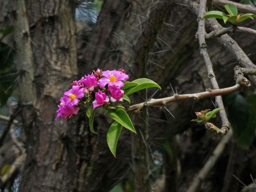
[[128, 130], [136, 133], [130, 117], [122, 108], [108, 109], [108, 116], [110, 116], [110, 118], [114, 119]]

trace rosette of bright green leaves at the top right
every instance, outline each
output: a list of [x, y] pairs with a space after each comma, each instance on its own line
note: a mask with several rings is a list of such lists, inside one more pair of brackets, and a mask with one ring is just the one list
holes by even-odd
[[238, 14], [238, 10], [234, 5], [226, 4], [224, 7], [227, 10], [228, 15], [221, 11], [209, 11], [206, 14], [204, 14], [204, 18], [222, 19], [224, 23], [230, 22], [236, 25], [246, 19], [253, 19], [256, 17], [255, 14], [251, 14], [251, 13], [247, 13], [243, 15]]

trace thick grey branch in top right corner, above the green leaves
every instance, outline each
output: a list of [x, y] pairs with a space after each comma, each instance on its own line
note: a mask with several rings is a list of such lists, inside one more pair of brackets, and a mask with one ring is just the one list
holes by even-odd
[[233, 1], [228, 1], [228, 0], [212, 0], [212, 4], [216, 6], [224, 6], [226, 4], [231, 4], [236, 6], [236, 8], [243, 13], [253, 13], [256, 14], [256, 7], [251, 6], [249, 4], [241, 4], [241, 3], [236, 3]]

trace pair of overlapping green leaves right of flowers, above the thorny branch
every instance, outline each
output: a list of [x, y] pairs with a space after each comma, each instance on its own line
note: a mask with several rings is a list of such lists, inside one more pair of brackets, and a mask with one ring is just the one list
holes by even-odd
[[156, 87], [161, 89], [161, 87], [156, 82], [147, 78], [140, 78], [132, 82], [126, 82], [124, 84], [123, 90], [126, 95], [130, 95], [142, 89], [151, 88], [151, 87]]

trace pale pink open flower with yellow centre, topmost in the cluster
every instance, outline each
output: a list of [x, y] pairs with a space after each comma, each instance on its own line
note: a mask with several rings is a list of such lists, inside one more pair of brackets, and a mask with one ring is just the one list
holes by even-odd
[[100, 88], [106, 86], [106, 84], [108, 84], [108, 86], [110, 85], [115, 85], [118, 86], [119, 88], [124, 86], [124, 83], [122, 81], [127, 80], [129, 78], [128, 75], [122, 73], [121, 71], [103, 71], [102, 75], [104, 77], [102, 77], [99, 82], [100, 82]]

